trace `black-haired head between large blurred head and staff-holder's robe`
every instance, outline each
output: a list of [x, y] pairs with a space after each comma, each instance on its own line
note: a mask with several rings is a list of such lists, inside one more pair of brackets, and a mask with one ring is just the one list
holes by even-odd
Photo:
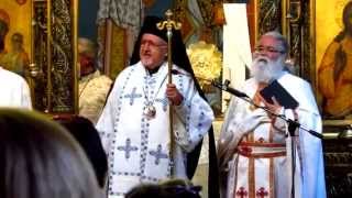
[[78, 116], [54, 117], [54, 120], [63, 124], [84, 148], [96, 173], [98, 184], [103, 188], [108, 172], [108, 158], [95, 125], [87, 118]]

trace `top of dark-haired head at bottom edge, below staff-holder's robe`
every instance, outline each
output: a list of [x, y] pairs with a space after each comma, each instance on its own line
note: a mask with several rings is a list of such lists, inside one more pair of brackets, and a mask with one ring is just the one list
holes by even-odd
[[160, 185], [143, 184], [132, 188], [125, 198], [200, 198], [200, 186], [194, 186], [188, 180], [170, 179]]

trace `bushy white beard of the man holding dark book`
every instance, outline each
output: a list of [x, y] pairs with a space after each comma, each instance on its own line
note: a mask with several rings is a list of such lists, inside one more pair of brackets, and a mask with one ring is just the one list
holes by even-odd
[[282, 75], [285, 64], [284, 58], [284, 56], [280, 56], [276, 61], [272, 61], [265, 56], [255, 57], [251, 66], [251, 76], [257, 82], [272, 82]]

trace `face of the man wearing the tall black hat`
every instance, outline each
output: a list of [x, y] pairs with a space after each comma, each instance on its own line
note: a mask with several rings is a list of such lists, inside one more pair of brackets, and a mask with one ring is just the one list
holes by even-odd
[[140, 58], [147, 69], [161, 66], [165, 61], [167, 43], [153, 34], [143, 34], [141, 40]]

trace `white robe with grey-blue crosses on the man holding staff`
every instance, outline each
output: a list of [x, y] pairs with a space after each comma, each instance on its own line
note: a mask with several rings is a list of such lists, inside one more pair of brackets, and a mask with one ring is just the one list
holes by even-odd
[[[190, 75], [175, 65], [174, 69], [178, 74], [173, 75], [173, 84], [184, 97], [173, 113], [175, 177], [186, 178], [186, 153], [208, 132], [213, 112]], [[170, 176], [166, 84], [166, 64], [150, 75], [140, 62], [117, 78], [97, 123], [109, 160], [109, 198], [123, 197], [141, 183], [157, 183]], [[148, 112], [146, 107], [156, 112]]]

